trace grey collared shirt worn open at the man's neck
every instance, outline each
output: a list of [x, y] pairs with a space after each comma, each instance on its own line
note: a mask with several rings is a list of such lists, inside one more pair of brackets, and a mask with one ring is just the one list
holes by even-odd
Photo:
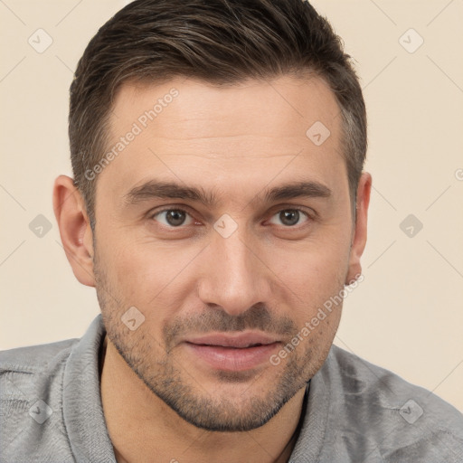
[[[0, 352], [1, 463], [116, 463], [99, 390], [104, 335], [99, 315], [80, 339]], [[462, 463], [463, 415], [332, 345], [289, 461]]]

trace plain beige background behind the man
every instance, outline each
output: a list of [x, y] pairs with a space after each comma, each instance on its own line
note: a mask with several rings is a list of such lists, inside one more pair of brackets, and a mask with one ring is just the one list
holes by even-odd
[[[0, 349], [80, 337], [99, 313], [74, 278], [52, 213], [52, 183], [71, 175], [72, 72], [121, 1], [5, 0], [0, 60]], [[463, 411], [463, 2], [321, 1], [357, 61], [373, 175], [364, 282], [345, 300], [335, 344]], [[52, 45], [36, 52], [39, 28]], [[400, 37], [413, 28], [415, 52]], [[416, 33], [402, 39], [411, 50]], [[460, 169], [460, 170], [458, 170]], [[29, 223], [43, 214], [42, 238]], [[422, 230], [400, 224], [413, 214]]]

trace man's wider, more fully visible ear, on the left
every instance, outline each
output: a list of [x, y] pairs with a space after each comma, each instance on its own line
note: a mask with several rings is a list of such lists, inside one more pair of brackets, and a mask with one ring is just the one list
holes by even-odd
[[53, 186], [53, 210], [60, 228], [64, 252], [76, 279], [95, 286], [93, 241], [85, 203], [71, 177], [60, 175]]

